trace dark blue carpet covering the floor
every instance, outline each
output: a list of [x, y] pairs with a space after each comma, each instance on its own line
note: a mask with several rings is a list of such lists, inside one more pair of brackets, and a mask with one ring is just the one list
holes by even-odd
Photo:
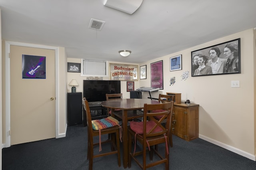
[[[106, 137], [102, 136], [102, 140]], [[87, 127], [70, 126], [67, 128], [65, 138], [52, 138], [3, 148], [2, 170], [87, 170], [89, 161], [86, 147]], [[164, 153], [164, 145], [160, 145], [158, 150], [163, 150]], [[95, 158], [93, 169], [123, 170], [124, 168], [118, 167], [116, 155], [110, 155]], [[138, 165], [132, 161], [129, 170], [138, 169], [140, 169]], [[164, 164], [149, 168], [149, 170], [161, 169], [164, 169]], [[256, 170], [256, 162], [200, 138], [186, 142], [173, 135], [170, 169]]]

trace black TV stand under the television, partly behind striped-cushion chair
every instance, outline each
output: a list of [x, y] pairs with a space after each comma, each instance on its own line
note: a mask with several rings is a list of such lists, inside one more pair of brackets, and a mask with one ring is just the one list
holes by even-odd
[[[101, 103], [102, 103], [102, 101], [88, 102], [92, 120], [103, 119], [103, 118], [108, 117], [107, 108], [102, 107]], [[87, 120], [86, 120], [86, 112], [84, 109], [83, 109], [83, 119], [84, 119], [84, 127], [86, 127]]]

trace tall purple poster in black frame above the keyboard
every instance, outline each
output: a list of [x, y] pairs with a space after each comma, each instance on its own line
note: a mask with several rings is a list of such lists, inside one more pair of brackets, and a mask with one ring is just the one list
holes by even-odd
[[151, 87], [164, 89], [163, 60], [150, 64]]

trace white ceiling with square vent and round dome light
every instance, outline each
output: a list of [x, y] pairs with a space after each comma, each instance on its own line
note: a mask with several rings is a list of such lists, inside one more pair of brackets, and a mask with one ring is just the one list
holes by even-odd
[[[256, 27], [256, 0], [144, 0], [133, 14], [104, 0], [0, 0], [2, 39], [65, 47], [69, 58], [142, 63]], [[90, 29], [91, 18], [105, 22]], [[131, 50], [128, 57], [118, 51]]]

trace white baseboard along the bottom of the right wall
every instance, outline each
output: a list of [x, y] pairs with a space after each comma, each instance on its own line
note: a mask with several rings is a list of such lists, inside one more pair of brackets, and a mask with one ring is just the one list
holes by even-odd
[[248, 152], [244, 152], [243, 150], [240, 150], [240, 149], [238, 149], [238, 148], [234, 148], [233, 146], [224, 144], [224, 143], [219, 142], [219, 141], [217, 141], [217, 140], [214, 140], [214, 139], [212, 139], [212, 138], [208, 138], [208, 137], [206, 137], [206, 136], [204, 136], [204, 135], [201, 135], [201, 134], [199, 134], [199, 138], [201, 138], [201, 139], [203, 139], [203, 140], [206, 140], [206, 141], [208, 141], [208, 142], [210, 142], [210, 143], [216, 144], [216, 145], [218, 145], [218, 146], [220, 146], [220, 147], [222, 147], [222, 148], [225, 148], [225, 149], [227, 149], [227, 150], [230, 150], [231, 152], [234, 152], [234, 153], [236, 153], [236, 154], [239, 154], [239, 155], [241, 155], [241, 156], [244, 156], [244, 157], [246, 157], [246, 158], [248, 158], [248, 159], [250, 159], [250, 160], [256, 161], [255, 155], [253, 155], [253, 154], [250, 154], [250, 153], [248, 153]]

